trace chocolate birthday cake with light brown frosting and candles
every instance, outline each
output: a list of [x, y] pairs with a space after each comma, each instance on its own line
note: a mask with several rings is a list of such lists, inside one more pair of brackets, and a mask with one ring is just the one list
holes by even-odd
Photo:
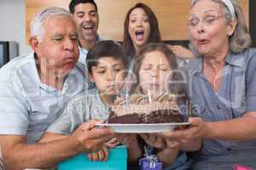
[[183, 122], [183, 116], [173, 94], [133, 94], [129, 100], [119, 97], [114, 101], [108, 123], [170, 123]]

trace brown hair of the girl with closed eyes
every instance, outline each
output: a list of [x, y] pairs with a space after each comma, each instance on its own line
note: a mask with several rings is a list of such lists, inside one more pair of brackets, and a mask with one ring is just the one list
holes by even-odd
[[143, 64], [143, 59], [145, 58], [145, 54], [148, 54], [153, 51], [160, 51], [161, 53], [165, 54], [168, 64], [170, 65], [170, 67], [173, 71], [172, 77], [170, 77], [170, 79], [169, 79], [171, 82], [168, 87], [169, 92], [171, 92], [172, 94], [185, 94], [185, 95], [181, 96], [181, 98], [179, 98], [179, 100], [182, 99], [183, 101], [185, 101], [185, 99], [187, 99], [187, 96], [185, 93], [185, 84], [183, 82], [183, 81], [185, 81], [185, 79], [184, 79], [185, 77], [183, 77], [184, 76], [182, 74], [183, 72], [178, 69], [177, 57], [175, 56], [175, 54], [173, 54], [172, 50], [170, 48], [168, 48], [166, 46], [166, 44], [163, 42], [158, 42], [158, 43], [151, 42], [139, 49], [137, 56], [136, 56], [135, 65], [133, 68], [133, 73], [135, 74], [135, 76], [137, 78], [137, 84], [134, 85], [132, 90], [135, 91], [139, 87], [139, 85], [138, 85], [139, 84], [139, 71]]

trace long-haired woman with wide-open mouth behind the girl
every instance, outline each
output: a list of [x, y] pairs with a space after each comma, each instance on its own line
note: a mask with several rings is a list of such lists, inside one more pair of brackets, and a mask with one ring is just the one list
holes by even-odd
[[137, 3], [125, 16], [123, 46], [130, 59], [148, 42], [160, 42], [158, 20], [151, 8]]

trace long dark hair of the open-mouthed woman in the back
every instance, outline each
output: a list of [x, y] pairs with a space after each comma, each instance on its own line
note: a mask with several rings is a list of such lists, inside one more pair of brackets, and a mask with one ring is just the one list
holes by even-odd
[[148, 14], [149, 26], [150, 26], [150, 34], [148, 37], [148, 42], [160, 42], [160, 30], [158, 26], [158, 20], [151, 8], [149, 8], [144, 3], [137, 3], [134, 7], [130, 8], [125, 16], [125, 23], [124, 23], [124, 37], [123, 37], [123, 46], [125, 55], [129, 57], [133, 57], [136, 52], [134, 45], [131, 41], [131, 37], [128, 31], [129, 28], [129, 20], [130, 14], [135, 8], [143, 8], [146, 14]]

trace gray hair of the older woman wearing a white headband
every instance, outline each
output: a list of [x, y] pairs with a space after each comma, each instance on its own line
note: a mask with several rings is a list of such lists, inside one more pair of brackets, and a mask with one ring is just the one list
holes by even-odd
[[[191, 8], [195, 5], [195, 3], [199, 2], [200, 0], [193, 0], [191, 3]], [[230, 9], [224, 4], [222, 0], [211, 0], [212, 2], [219, 3], [222, 7], [225, 18], [230, 23], [232, 21], [232, 14], [230, 13]], [[244, 49], [249, 48], [252, 40], [251, 36], [249, 34], [246, 21], [244, 18], [244, 14], [242, 12], [242, 9], [237, 2], [237, 0], [230, 0], [230, 2], [233, 4], [233, 7], [235, 9], [236, 13], [236, 20], [237, 20], [237, 26], [234, 33], [230, 36], [230, 51], [232, 53], [241, 53]]]

